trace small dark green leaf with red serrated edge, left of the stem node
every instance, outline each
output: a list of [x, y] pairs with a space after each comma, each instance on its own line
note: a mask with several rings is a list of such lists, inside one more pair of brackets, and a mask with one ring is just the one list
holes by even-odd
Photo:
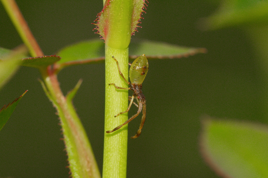
[[22, 66], [35, 67], [35, 68], [45, 68], [60, 60], [60, 56], [50, 55], [50, 56], [40, 56], [35, 58], [24, 58], [22, 60]]

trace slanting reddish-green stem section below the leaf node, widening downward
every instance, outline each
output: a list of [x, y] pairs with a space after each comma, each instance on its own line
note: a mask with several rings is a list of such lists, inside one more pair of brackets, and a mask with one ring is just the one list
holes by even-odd
[[[99, 169], [88, 137], [73, 105], [71, 104], [73, 96], [70, 96], [69, 98], [63, 96], [57, 81], [57, 75], [50, 72], [49, 69], [47, 71], [42, 71], [42, 77], [46, 83], [46, 88], [48, 89], [46, 93], [52, 100], [52, 103], [56, 107], [58, 115], [60, 116], [60, 123], [72, 177], [100, 178]], [[74, 90], [77, 90], [78, 87], [79, 86]]]

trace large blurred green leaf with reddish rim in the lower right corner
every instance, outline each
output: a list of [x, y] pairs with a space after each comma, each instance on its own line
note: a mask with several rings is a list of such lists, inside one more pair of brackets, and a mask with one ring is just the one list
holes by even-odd
[[268, 177], [268, 126], [205, 118], [201, 151], [223, 177]]

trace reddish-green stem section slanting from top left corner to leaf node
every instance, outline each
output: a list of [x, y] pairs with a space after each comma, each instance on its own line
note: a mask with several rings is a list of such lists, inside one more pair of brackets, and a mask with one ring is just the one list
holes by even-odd
[[43, 56], [44, 54], [36, 42], [35, 37], [32, 35], [16, 2], [14, 0], [1, 0], [1, 2], [32, 57]]

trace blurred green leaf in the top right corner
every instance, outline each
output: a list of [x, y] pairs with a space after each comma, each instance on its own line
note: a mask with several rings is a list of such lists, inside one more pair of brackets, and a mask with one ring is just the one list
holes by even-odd
[[241, 25], [267, 25], [268, 1], [224, 1], [221, 8], [203, 19], [200, 25], [204, 29], [219, 29]]

